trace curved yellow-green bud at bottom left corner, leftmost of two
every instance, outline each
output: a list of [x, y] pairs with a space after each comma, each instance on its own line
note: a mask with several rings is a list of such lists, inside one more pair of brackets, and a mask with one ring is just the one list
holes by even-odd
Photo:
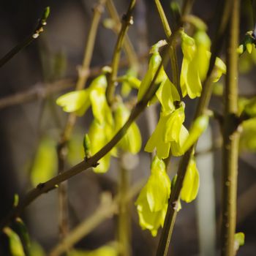
[[10, 255], [26, 256], [17, 233], [15, 233], [10, 227], [4, 227], [3, 231], [9, 238]]

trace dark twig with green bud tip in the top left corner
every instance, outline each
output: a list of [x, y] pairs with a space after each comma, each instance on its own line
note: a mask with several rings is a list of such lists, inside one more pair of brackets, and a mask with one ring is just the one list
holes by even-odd
[[46, 20], [50, 14], [50, 7], [46, 7], [42, 17], [39, 19], [39, 22], [37, 23], [36, 29], [27, 37], [24, 39], [23, 42], [20, 42], [20, 44], [16, 45], [15, 48], [12, 48], [10, 52], [8, 52], [4, 57], [0, 59], [0, 67], [4, 66], [10, 59], [12, 59], [20, 50], [23, 50], [23, 48], [26, 48], [26, 46], [30, 45], [31, 42], [33, 42], [35, 39], [39, 37], [39, 34], [44, 31], [43, 27], [46, 25]]

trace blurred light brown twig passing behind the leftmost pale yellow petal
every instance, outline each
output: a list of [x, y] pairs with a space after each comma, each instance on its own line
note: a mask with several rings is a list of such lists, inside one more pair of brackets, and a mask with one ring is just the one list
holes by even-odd
[[[94, 51], [94, 43], [96, 39], [96, 34], [98, 31], [99, 20], [101, 18], [103, 8], [106, 0], [99, 0], [99, 3], [94, 7], [94, 16], [91, 21], [91, 26], [89, 30], [88, 40], [86, 42], [86, 50], [83, 56], [83, 65], [78, 69], [78, 81], [76, 83], [75, 89], [81, 90], [86, 85], [86, 81], [89, 78], [89, 67], [91, 64], [91, 57]], [[70, 113], [67, 118], [67, 124], [59, 140], [57, 146], [58, 153], [58, 171], [59, 173], [65, 170], [65, 161], [67, 158], [67, 142], [72, 135], [73, 127], [76, 122], [75, 113]], [[67, 203], [67, 182], [60, 184], [59, 186], [59, 232], [61, 238], [67, 236], [68, 232], [68, 203]]]

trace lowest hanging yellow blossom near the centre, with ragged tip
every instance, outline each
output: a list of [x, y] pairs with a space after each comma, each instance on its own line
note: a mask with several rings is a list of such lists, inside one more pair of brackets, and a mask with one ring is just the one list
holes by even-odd
[[136, 200], [140, 226], [157, 236], [157, 230], [163, 226], [167, 211], [167, 202], [170, 196], [170, 178], [165, 170], [165, 163], [154, 157], [151, 164], [151, 175], [140, 191]]

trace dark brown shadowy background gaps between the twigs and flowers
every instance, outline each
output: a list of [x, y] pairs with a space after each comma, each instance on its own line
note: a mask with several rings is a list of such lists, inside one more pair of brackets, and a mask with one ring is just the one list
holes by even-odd
[[[50, 17], [45, 32], [31, 43], [29, 47], [18, 53], [11, 61], [0, 69], [0, 99], [12, 94], [27, 91], [38, 83], [52, 82], [60, 78], [76, 78], [77, 68], [83, 61], [83, 50], [91, 23], [91, 8], [94, 0], [55, 0], [55, 1], [0, 1], [0, 56], [33, 31], [42, 10], [50, 6]], [[193, 13], [208, 24], [208, 33], [212, 37], [216, 29], [218, 1], [196, 0]], [[248, 9], [249, 1], [241, 1], [241, 38], [248, 30], [252, 30], [252, 18]], [[115, 1], [122, 15], [129, 1]], [[162, 1], [167, 17], [170, 18], [170, 1]], [[107, 13], [103, 18], [108, 17]], [[138, 53], [146, 53], [149, 45], [159, 39], [165, 39], [154, 1], [138, 0], [134, 15], [135, 24], [129, 29], [129, 36]], [[101, 67], [109, 63], [116, 35], [113, 31], [99, 27], [94, 48], [91, 67]], [[53, 56], [59, 54], [66, 65], [59, 74], [53, 72]], [[141, 61], [143, 63], [143, 61]], [[241, 94], [255, 94], [255, 69], [241, 75], [239, 88]], [[89, 84], [89, 83], [88, 83]], [[63, 91], [64, 92], [64, 91]], [[21, 197], [31, 187], [26, 167], [33, 158], [39, 138], [45, 132], [53, 134], [58, 140], [61, 128], [64, 127], [67, 114], [62, 113], [55, 105], [55, 99], [62, 94], [53, 94], [46, 99], [35, 99], [20, 105], [0, 110], [0, 217], [4, 217], [12, 206], [13, 195]], [[187, 100], [187, 99], [186, 99]], [[189, 116], [195, 109], [195, 101], [186, 101], [187, 124]], [[211, 108], [221, 110], [221, 99], [214, 97]], [[138, 124], [143, 130], [143, 145], [148, 138], [146, 116], [139, 118]], [[89, 126], [86, 118], [79, 118], [78, 127], [83, 132]], [[219, 129], [216, 121], [212, 122], [213, 140], [218, 140]], [[216, 219], [219, 219], [220, 182], [221, 182], [221, 151], [215, 150], [214, 157], [214, 188], [216, 201]], [[149, 157], [141, 152], [138, 165], [131, 170], [131, 181], [148, 176]], [[136, 159], [136, 160], [138, 160]], [[173, 175], [176, 160], [173, 161]], [[208, 165], [205, 166], [208, 169]], [[255, 155], [241, 154], [238, 176], [238, 225], [237, 230], [244, 232], [246, 243], [238, 255], [254, 255], [256, 250], [256, 173]], [[116, 162], [105, 175], [96, 175], [88, 170], [69, 181], [69, 202], [71, 227], [94, 212], [99, 203], [102, 191], [116, 193]], [[242, 198], [242, 199], [241, 199]], [[240, 199], [240, 200], [239, 200]], [[152, 238], [148, 231], [140, 230], [135, 206], [132, 208], [132, 255], [154, 255], [158, 238]], [[200, 255], [199, 238], [197, 236], [196, 201], [189, 205], [183, 203], [178, 214], [176, 227], [170, 244], [171, 255]], [[42, 195], [23, 213], [23, 219], [29, 227], [31, 238], [45, 249], [46, 252], [58, 241], [58, 215], [56, 191]], [[94, 232], [80, 241], [78, 248], [94, 249], [113, 241], [115, 238], [116, 217], [108, 219], [97, 227]], [[207, 229], [207, 227], [206, 227]], [[217, 225], [217, 251], [219, 252], [219, 228]], [[159, 232], [160, 233], [160, 232]], [[0, 255], [5, 255], [6, 238], [1, 236]]]

